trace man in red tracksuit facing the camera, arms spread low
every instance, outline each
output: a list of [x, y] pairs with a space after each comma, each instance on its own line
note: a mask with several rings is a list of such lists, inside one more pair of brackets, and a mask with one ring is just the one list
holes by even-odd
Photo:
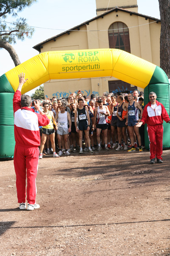
[[156, 100], [156, 93], [149, 94], [150, 102], [144, 107], [141, 122], [136, 126], [141, 127], [147, 123], [147, 132], [150, 141], [150, 164], [163, 163], [162, 161], [162, 140], [163, 120], [170, 123], [170, 117], [164, 106]]

